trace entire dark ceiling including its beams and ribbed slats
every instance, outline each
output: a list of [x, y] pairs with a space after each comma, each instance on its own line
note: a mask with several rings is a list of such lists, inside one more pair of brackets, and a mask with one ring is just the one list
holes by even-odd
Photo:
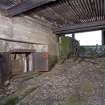
[[34, 8], [57, 34], [105, 28], [105, 0], [0, 0], [0, 8], [10, 16]]

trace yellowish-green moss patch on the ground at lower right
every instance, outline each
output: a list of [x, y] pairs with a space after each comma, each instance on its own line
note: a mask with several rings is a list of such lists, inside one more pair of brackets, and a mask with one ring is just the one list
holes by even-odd
[[93, 85], [90, 81], [85, 80], [77, 91], [79, 94], [67, 97], [63, 105], [87, 105], [88, 96], [93, 92]]

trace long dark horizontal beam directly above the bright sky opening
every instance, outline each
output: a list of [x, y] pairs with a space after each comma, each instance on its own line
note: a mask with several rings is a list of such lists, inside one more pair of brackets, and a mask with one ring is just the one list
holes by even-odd
[[59, 34], [70, 34], [70, 33], [77, 33], [77, 32], [102, 30], [102, 29], [105, 29], [105, 21], [82, 23], [82, 24], [78, 24], [78, 25], [76, 24], [73, 26], [56, 28], [54, 29], [54, 33], [59, 35]]

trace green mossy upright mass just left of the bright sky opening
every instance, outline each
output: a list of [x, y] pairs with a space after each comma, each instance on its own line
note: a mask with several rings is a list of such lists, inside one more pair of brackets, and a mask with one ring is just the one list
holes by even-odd
[[61, 63], [70, 56], [77, 56], [79, 42], [70, 37], [61, 36], [59, 38], [59, 61]]

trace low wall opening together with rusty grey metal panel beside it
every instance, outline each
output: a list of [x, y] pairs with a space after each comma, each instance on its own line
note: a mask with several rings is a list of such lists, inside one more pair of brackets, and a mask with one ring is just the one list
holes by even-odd
[[14, 49], [9, 52], [9, 56], [13, 75], [48, 71], [47, 53], [32, 49]]

